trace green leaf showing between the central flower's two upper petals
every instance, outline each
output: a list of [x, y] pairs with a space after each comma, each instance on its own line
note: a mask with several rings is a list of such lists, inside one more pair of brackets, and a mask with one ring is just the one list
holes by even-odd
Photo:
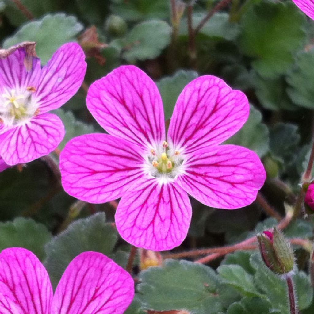
[[170, 119], [176, 101], [183, 88], [193, 79], [198, 77], [198, 73], [192, 70], [179, 70], [174, 75], [164, 77], [157, 86], [164, 103], [165, 119]]

